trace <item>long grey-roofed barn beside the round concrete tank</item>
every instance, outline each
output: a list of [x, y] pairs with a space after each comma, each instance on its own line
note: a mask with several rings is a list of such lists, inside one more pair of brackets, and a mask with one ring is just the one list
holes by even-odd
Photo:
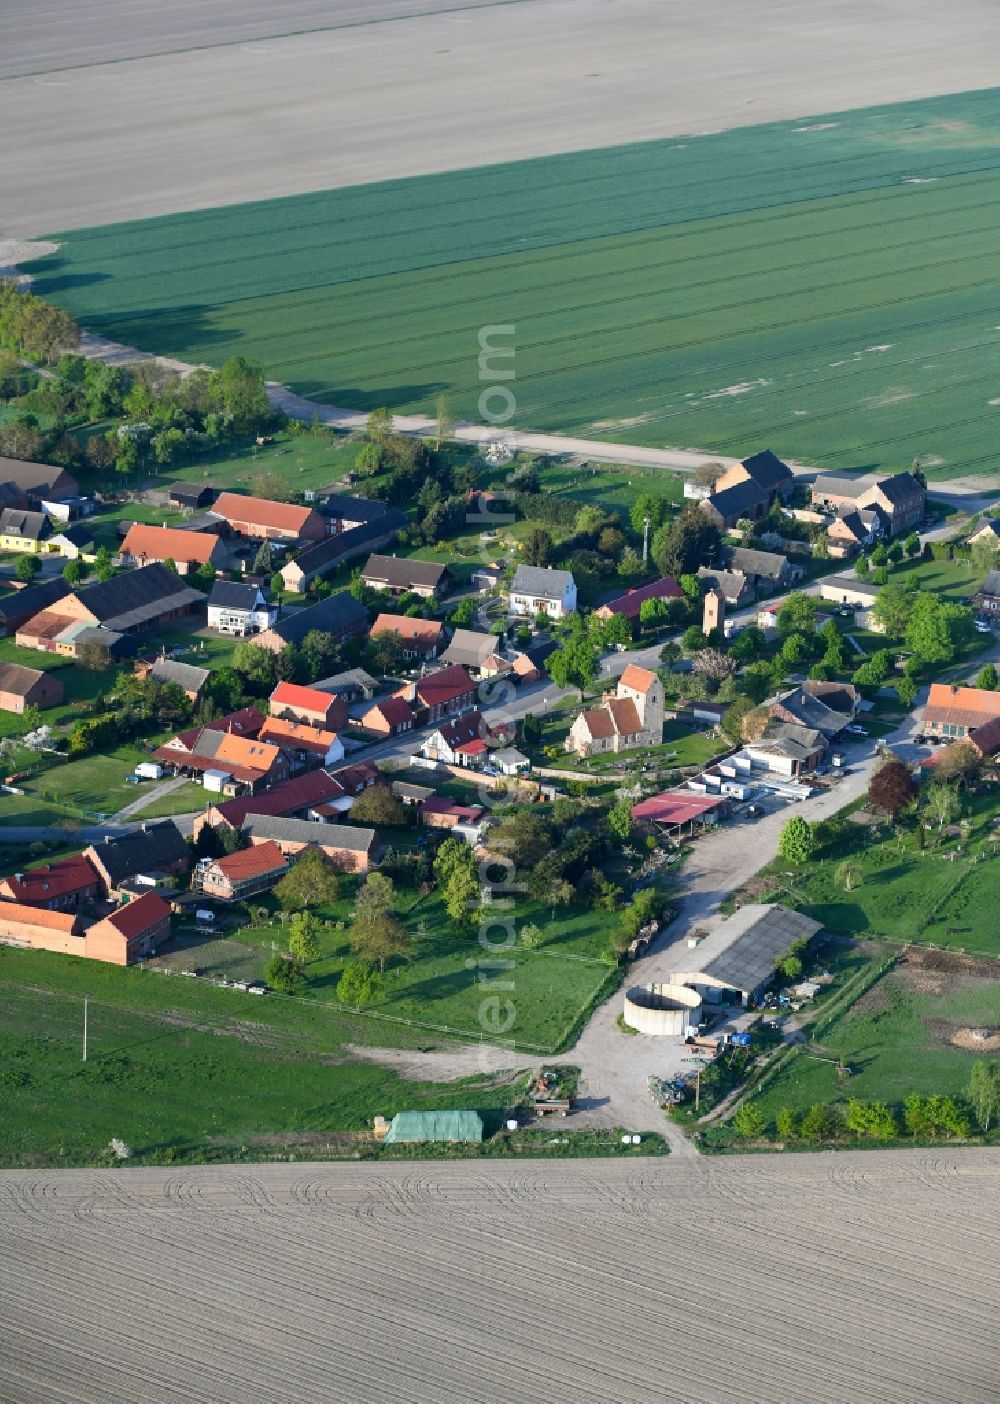
[[743, 994], [753, 994], [767, 984], [775, 962], [789, 946], [815, 936], [820, 929], [822, 922], [801, 911], [777, 903], [753, 903], [715, 927], [699, 946], [680, 953], [671, 979], [684, 976], [692, 983], [692, 977], [701, 973]]

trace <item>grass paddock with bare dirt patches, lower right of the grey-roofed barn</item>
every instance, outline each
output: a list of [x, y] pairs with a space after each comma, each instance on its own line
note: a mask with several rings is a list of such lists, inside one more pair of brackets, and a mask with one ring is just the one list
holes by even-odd
[[843, 1059], [851, 1068], [847, 1081], [806, 1046], [791, 1054], [754, 1102], [771, 1119], [782, 1106], [805, 1111], [848, 1097], [890, 1104], [910, 1092], [961, 1097], [973, 1054], [954, 1047], [949, 1032], [994, 1024], [999, 997], [996, 980], [903, 965], [837, 1015], [813, 1049]]

